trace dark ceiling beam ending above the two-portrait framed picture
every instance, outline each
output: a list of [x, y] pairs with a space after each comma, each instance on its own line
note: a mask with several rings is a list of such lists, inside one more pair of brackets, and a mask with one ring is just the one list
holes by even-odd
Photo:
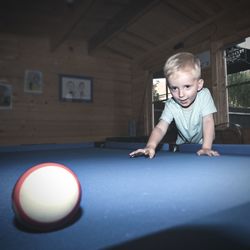
[[107, 43], [118, 32], [125, 30], [159, 1], [160, 0], [131, 0], [126, 8], [122, 9], [100, 31], [88, 40], [89, 53]]

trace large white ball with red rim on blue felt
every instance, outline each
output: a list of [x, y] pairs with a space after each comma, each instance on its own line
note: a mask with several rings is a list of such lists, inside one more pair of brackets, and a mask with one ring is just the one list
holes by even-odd
[[69, 168], [43, 163], [19, 178], [12, 198], [22, 223], [40, 229], [54, 228], [66, 223], [79, 209], [81, 186]]

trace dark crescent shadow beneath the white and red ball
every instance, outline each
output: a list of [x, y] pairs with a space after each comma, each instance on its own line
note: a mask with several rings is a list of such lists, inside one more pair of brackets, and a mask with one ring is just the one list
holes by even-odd
[[72, 226], [73, 224], [75, 224], [77, 221], [81, 219], [83, 214], [84, 214], [84, 211], [80, 207], [77, 210], [73, 218], [71, 218], [69, 221], [66, 221], [65, 223], [62, 223], [60, 226], [53, 226], [51, 229], [42, 229], [42, 228], [39, 229], [39, 228], [29, 226], [28, 224], [21, 223], [16, 217], [14, 217], [13, 219], [13, 224], [18, 230], [23, 231], [23, 232], [34, 233], [34, 234], [48, 233], [48, 232], [59, 231], [59, 230]]

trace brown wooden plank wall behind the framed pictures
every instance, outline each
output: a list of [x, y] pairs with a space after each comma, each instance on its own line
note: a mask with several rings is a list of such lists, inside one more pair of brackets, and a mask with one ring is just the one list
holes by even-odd
[[[77, 47], [71, 51], [67, 44], [51, 53], [49, 43], [41, 38], [13, 39], [18, 39], [22, 56], [0, 68], [0, 74], [13, 86], [12, 109], [0, 110], [0, 145], [74, 143], [128, 135], [131, 119], [128, 62], [84, 55], [84, 49]], [[83, 54], [79, 56], [78, 52]], [[42, 94], [24, 93], [26, 69], [43, 72]], [[93, 77], [93, 102], [62, 102], [60, 74]]]

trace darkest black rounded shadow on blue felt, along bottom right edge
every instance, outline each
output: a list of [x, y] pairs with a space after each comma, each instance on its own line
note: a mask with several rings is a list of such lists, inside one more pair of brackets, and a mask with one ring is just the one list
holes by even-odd
[[223, 233], [220, 228], [204, 225], [177, 227], [107, 249], [249, 250], [249, 245]]

